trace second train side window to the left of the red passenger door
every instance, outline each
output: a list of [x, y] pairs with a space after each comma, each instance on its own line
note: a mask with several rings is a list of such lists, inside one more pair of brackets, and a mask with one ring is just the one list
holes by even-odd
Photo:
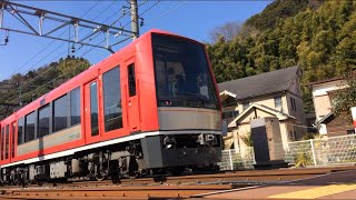
[[68, 128], [68, 96], [65, 94], [53, 101], [53, 132]]

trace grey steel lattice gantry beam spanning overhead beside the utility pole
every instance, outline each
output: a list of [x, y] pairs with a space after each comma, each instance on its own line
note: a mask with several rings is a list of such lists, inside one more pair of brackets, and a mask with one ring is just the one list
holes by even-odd
[[[97, 48], [102, 48], [102, 49], [108, 49], [108, 44], [106, 46], [96, 46], [90, 42], [86, 42], [85, 40], [87, 38], [81, 38], [81, 34], [78, 33], [78, 29], [86, 28], [87, 30], [93, 30], [91, 36], [105, 32], [106, 34], [116, 34], [119, 31], [127, 32], [130, 34], [136, 34], [134, 31], [135, 27], [132, 27], [132, 30], [126, 30], [126, 29], [120, 29], [117, 27], [111, 27], [105, 23], [99, 23], [96, 21], [89, 21], [82, 18], [77, 18], [77, 17], [71, 17], [49, 10], [43, 10], [43, 9], [38, 9], [34, 7], [29, 7], [24, 4], [19, 4], [10, 1], [3, 1], [0, 0], [2, 4], [2, 11], [7, 12], [11, 19], [16, 19], [18, 22], [24, 26], [24, 29], [19, 29], [19, 27], [14, 28], [7, 28], [4, 26], [0, 26], [0, 29], [8, 30], [8, 31], [13, 31], [13, 32], [19, 32], [19, 33], [24, 33], [24, 34], [31, 34], [31, 36], [38, 36], [38, 37], [44, 37], [44, 38], [50, 38], [50, 39], [56, 39], [56, 40], [61, 40], [61, 41], [70, 41], [73, 43], [80, 43], [85, 46], [90, 46], [90, 47], [97, 47]], [[137, 0], [131, 0], [131, 8], [136, 7]], [[134, 13], [134, 12], [132, 12]], [[131, 13], [131, 16], [132, 16]], [[27, 19], [28, 18], [28, 19]], [[38, 20], [39, 19], [39, 20]], [[43, 23], [43, 20], [50, 21], [51, 24], [48, 26], [47, 23]], [[32, 20], [32, 22], [30, 21]], [[39, 22], [39, 28], [37, 29], [33, 27], [31, 23], [34, 21]], [[55, 23], [53, 23], [55, 22]], [[58, 24], [59, 23], [59, 24]], [[75, 29], [75, 37], [73, 38], [63, 38], [63, 37], [56, 37], [53, 33], [56, 33], [58, 30], [66, 28], [67, 26], [72, 26]], [[49, 30], [44, 29], [44, 27], [50, 28]], [[108, 43], [108, 42], [107, 42]]]

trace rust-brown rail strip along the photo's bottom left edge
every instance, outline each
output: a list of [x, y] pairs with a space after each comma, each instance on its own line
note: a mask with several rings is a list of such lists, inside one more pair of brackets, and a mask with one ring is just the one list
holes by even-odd
[[239, 186], [159, 186], [159, 187], [110, 187], [91, 189], [27, 189], [6, 190], [4, 199], [168, 199], [189, 198], [199, 193], [236, 189]]

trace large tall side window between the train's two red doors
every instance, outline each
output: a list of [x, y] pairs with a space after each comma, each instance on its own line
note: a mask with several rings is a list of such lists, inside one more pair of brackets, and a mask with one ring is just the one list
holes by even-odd
[[120, 69], [118, 67], [102, 76], [105, 131], [122, 128]]

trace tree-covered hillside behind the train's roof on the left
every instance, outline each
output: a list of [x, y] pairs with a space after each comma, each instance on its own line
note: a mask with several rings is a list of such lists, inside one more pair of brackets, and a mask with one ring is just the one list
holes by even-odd
[[16, 104], [31, 102], [89, 67], [83, 58], [68, 57], [3, 80], [0, 82], [0, 119], [18, 109]]

